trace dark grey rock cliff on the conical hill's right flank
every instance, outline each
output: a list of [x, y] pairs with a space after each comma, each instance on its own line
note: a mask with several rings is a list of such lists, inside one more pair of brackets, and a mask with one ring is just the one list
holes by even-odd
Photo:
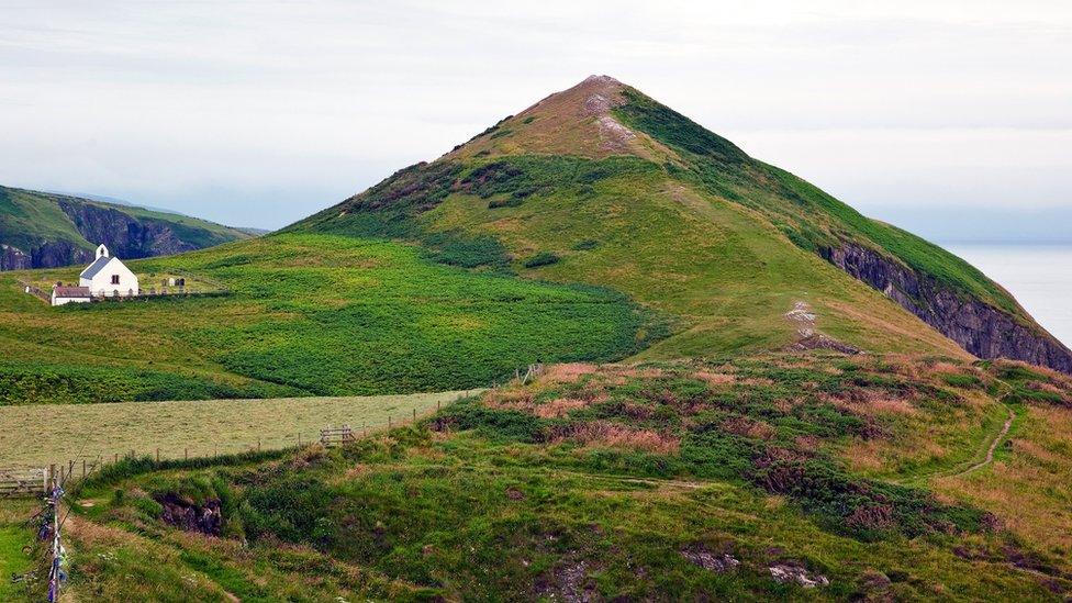
[[980, 300], [958, 295], [859, 245], [846, 243], [823, 249], [822, 255], [980, 358], [1010, 358], [1072, 373], [1072, 351], [1037, 325], [1023, 324]]

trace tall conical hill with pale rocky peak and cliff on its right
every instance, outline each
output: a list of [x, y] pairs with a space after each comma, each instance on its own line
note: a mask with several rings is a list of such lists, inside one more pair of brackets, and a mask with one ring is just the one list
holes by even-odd
[[289, 230], [409, 238], [447, 263], [617, 289], [672, 323], [652, 358], [959, 346], [1072, 372], [1072, 353], [968, 263], [608, 76]]

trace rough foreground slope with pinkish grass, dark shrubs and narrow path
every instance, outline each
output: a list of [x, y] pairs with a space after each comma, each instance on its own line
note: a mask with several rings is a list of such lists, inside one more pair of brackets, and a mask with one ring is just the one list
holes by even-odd
[[[1014, 365], [559, 366], [343, 449], [115, 466], [75, 493], [86, 505], [69, 532], [71, 590], [1060, 601], [1072, 566], [1058, 492], [1032, 488], [1035, 505], [1018, 510], [941, 481], [897, 482], [959, 467], [1003, 404], [1067, 420], [1070, 403], [1067, 379]], [[996, 462], [1045, 447], [1054, 471], [1072, 466], [1067, 434], [1062, 449], [1020, 425]], [[864, 462], [871, 444], [884, 451]], [[221, 521], [183, 520], [206, 509]]]

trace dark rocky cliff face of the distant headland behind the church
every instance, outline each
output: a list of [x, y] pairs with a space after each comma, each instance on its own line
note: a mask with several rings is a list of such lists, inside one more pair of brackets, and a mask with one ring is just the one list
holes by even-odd
[[176, 235], [165, 222], [135, 219], [119, 210], [67, 200], [59, 209], [86, 241], [103, 243], [119, 257], [139, 258], [192, 252], [198, 247]]

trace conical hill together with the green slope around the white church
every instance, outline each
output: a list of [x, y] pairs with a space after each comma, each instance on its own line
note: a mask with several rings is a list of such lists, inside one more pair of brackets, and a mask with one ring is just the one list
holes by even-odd
[[[55, 201], [19, 206], [69, 228]], [[1063, 369], [1068, 351], [959, 258], [611, 78], [281, 233], [133, 267], [233, 294], [49, 309], [15, 278], [77, 268], [12, 275], [0, 400], [439, 391], [539, 360], [784, 348], [969, 358], [958, 343]]]

